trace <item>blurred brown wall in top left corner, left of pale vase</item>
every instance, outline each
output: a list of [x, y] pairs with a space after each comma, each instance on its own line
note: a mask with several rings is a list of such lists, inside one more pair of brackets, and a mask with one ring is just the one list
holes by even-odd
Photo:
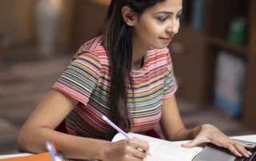
[[34, 37], [34, 0], [1, 0], [0, 34], [16, 43], [29, 42]]

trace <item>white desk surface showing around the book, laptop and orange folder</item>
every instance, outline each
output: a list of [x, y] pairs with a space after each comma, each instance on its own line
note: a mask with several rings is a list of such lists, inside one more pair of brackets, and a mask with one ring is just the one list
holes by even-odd
[[[245, 140], [245, 141], [250, 141], [250, 142], [254, 142], [256, 143], [256, 134], [255, 135], [238, 135], [238, 136], [231, 136], [232, 139], [241, 139], [241, 140]], [[188, 142], [188, 140], [184, 140], [184, 141], [176, 141], [174, 143], [177, 144], [182, 144], [182, 143], [186, 143]], [[14, 155], [0, 155], [0, 159], [6, 159], [6, 158], [12, 158], [12, 157], [18, 157], [18, 156], [26, 156], [26, 155], [30, 155], [30, 153], [20, 153], [20, 154], [14, 154]]]

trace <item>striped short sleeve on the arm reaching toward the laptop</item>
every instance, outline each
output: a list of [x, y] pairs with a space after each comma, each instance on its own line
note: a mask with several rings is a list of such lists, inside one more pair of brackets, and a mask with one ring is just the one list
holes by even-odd
[[166, 64], [166, 73], [164, 81], [164, 94], [162, 99], [167, 99], [170, 96], [173, 96], [176, 92], [178, 85], [174, 77], [173, 65], [170, 59], [170, 53], [167, 51], [167, 64]]

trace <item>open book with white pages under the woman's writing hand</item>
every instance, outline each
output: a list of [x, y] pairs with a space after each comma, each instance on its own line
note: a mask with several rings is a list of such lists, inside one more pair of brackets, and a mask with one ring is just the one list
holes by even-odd
[[[177, 143], [156, 139], [147, 135], [129, 133], [131, 137], [146, 140], [150, 144], [150, 155], [147, 155], [146, 161], [191, 161], [202, 151], [202, 147], [181, 147]], [[124, 135], [118, 133], [114, 135], [112, 142], [126, 139]]]

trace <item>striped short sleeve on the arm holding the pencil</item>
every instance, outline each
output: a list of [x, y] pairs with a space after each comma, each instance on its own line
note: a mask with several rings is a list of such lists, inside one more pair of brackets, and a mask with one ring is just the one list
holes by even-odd
[[101, 64], [95, 53], [77, 54], [52, 88], [87, 104], [98, 84]]

